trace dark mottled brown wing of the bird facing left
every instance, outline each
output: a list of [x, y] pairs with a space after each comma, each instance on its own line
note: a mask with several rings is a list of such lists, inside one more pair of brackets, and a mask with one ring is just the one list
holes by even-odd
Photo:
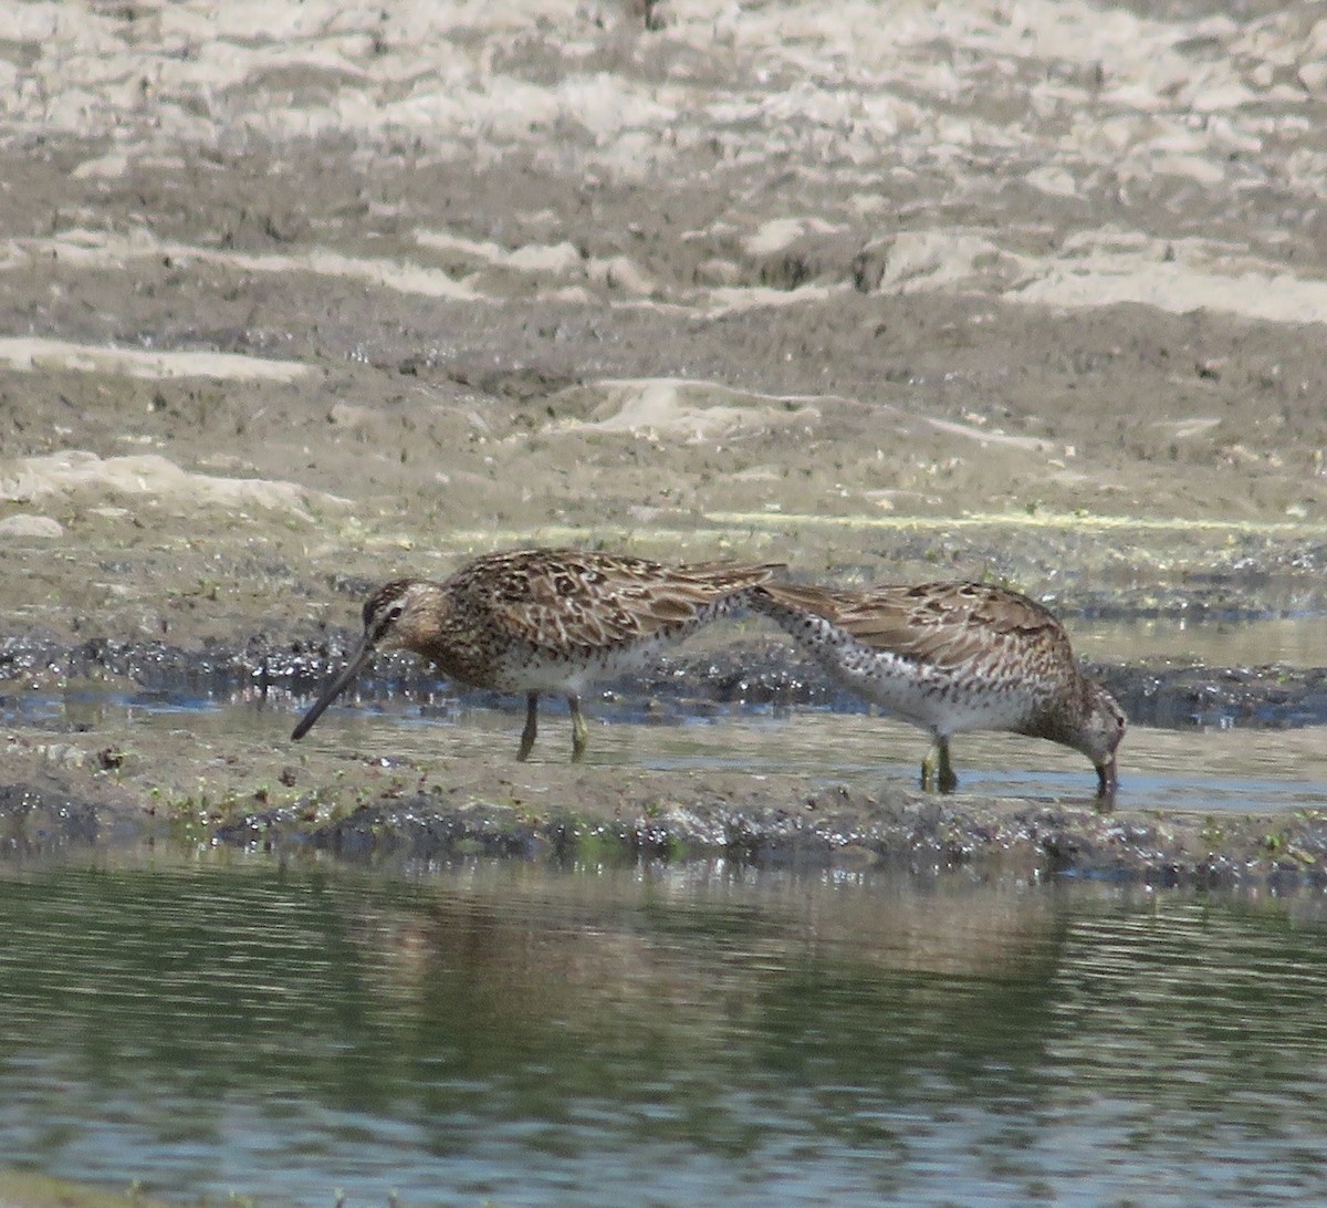
[[667, 567], [576, 550], [522, 551], [491, 583], [488, 607], [512, 637], [540, 646], [601, 648], [695, 620], [706, 604], [764, 583], [775, 567]]

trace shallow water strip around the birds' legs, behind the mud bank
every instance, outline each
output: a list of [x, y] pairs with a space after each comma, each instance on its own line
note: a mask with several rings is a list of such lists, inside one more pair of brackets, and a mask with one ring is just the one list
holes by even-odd
[[[153, 733], [180, 727], [224, 750], [260, 743], [267, 762], [301, 751], [381, 754], [421, 766], [495, 751], [515, 753], [524, 709], [512, 700], [492, 706], [443, 701], [421, 706], [387, 702], [333, 705], [297, 746], [289, 730], [295, 702], [223, 704], [169, 693], [107, 692], [72, 685], [58, 694], [0, 700], [11, 726], [90, 727], [123, 735], [150, 758]], [[649, 712], [634, 700], [592, 701], [588, 761], [593, 766], [656, 771], [750, 771], [804, 775], [864, 793], [914, 787], [928, 738], [916, 726], [865, 712], [820, 708], [707, 706], [695, 713]], [[561, 701], [540, 708], [536, 761], [561, 763], [571, 721]], [[1096, 777], [1075, 751], [1009, 734], [961, 734], [953, 742], [959, 793], [1088, 802]], [[1202, 811], [1327, 810], [1327, 742], [1322, 726], [1292, 730], [1210, 727], [1166, 730], [1131, 725], [1119, 753], [1121, 808]], [[269, 773], [264, 773], [267, 775]]]

